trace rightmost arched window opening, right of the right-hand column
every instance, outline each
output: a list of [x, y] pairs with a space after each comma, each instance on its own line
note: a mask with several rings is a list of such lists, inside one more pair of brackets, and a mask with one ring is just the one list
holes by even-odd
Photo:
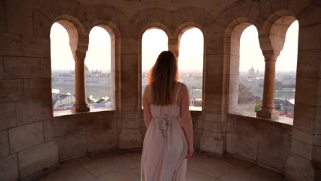
[[275, 109], [281, 117], [294, 117], [296, 93], [296, 64], [298, 60], [298, 21], [287, 29], [285, 43], [276, 59]]

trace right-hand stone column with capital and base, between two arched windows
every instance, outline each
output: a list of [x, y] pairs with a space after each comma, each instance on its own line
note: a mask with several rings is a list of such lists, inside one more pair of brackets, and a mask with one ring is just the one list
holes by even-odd
[[261, 110], [257, 111], [257, 117], [276, 119], [279, 116], [279, 112], [274, 109], [275, 62], [279, 54], [280, 51], [263, 51], [265, 58], [263, 102]]

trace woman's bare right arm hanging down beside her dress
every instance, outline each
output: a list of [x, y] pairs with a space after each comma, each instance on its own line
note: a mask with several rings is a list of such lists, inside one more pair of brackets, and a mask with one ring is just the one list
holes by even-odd
[[193, 122], [191, 113], [189, 112], [189, 90], [185, 84], [182, 84], [182, 101], [180, 102], [180, 119], [185, 131], [187, 143], [189, 143], [189, 154], [187, 158], [193, 154]]

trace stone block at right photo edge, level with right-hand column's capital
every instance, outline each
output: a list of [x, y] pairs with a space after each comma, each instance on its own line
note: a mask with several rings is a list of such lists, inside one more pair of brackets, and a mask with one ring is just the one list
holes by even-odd
[[321, 50], [300, 51], [298, 53], [298, 77], [321, 78]]

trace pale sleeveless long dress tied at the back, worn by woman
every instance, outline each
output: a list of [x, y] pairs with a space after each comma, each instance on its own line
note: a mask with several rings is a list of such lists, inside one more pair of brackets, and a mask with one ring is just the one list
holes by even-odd
[[[177, 97], [178, 93], [175, 103]], [[185, 181], [188, 146], [180, 106], [151, 104], [150, 112], [152, 119], [143, 142], [141, 181]]]

